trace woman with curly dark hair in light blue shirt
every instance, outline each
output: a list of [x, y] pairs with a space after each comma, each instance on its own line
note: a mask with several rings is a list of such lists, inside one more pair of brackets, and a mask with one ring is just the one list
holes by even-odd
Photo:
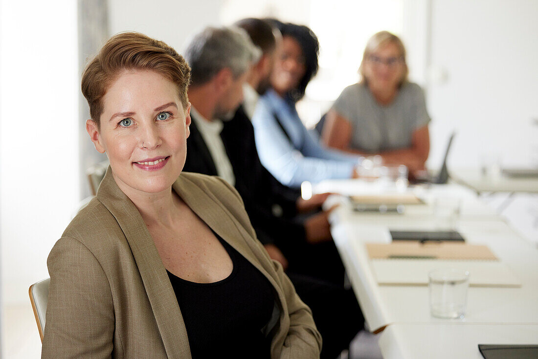
[[320, 45], [307, 26], [273, 20], [282, 33], [282, 49], [261, 96], [252, 123], [261, 163], [282, 184], [351, 178], [362, 157], [322, 147], [311, 137], [295, 109], [317, 73]]

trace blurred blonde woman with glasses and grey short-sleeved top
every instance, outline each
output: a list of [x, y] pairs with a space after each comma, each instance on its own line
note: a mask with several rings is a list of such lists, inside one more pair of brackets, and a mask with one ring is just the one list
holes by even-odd
[[407, 80], [402, 41], [381, 31], [366, 44], [362, 80], [346, 87], [327, 114], [323, 142], [335, 149], [422, 170], [429, 153], [430, 117], [422, 89]]

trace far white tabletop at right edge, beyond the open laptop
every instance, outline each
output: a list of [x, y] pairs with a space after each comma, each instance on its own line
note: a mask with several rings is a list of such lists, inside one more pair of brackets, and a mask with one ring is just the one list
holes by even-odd
[[455, 168], [450, 178], [477, 192], [530, 192], [538, 193], [538, 177], [508, 177], [484, 175], [479, 168]]

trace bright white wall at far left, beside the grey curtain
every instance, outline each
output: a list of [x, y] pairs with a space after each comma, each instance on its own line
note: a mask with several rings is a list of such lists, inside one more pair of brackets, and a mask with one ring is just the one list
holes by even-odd
[[0, 240], [10, 304], [27, 302], [28, 287], [48, 277], [48, 252], [77, 205], [81, 124], [76, 2], [0, 6]]

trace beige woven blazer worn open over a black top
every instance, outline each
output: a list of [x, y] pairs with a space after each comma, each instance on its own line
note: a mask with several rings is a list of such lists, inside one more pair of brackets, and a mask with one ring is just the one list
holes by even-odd
[[[317, 358], [310, 309], [271, 261], [243, 202], [218, 177], [182, 173], [173, 189], [274, 287], [271, 358]], [[174, 290], [144, 221], [110, 167], [96, 198], [69, 224], [47, 260], [51, 276], [42, 358], [190, 358]], [[241, 339], [238, 338], [238, 345]]]

